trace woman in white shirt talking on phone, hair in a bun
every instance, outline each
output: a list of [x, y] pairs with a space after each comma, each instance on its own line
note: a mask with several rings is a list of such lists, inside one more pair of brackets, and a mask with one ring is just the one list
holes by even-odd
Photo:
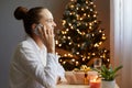
[[10, 66], [11, 88], [55, 88], [65, 80], [64, 68], [55, 55], [52, 13], [42, 7], [18, 7], [14, 18], [23, 20], [26, 40], [21, 42]]

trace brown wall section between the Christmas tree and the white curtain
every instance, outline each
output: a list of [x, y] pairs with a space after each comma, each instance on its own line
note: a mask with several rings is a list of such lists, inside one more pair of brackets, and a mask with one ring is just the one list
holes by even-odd
[[100, 28], [105, 29], [107, 41], [103, 45], [110, 48], [110, 0], [96, 0], [98, 19], [101, 21]]

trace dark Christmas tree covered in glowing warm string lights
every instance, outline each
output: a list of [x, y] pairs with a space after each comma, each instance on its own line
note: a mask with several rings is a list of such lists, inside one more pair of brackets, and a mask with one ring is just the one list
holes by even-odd
[[[67, 51], [59, 63], [66, 70], [81, 65], [92, 66], [95, 58], [109, 65], [109, 51], [102, 47], [106, 35], [98, 21], [95, 0], [70, 0], [63, 14], [64, 30], [56, 36], [56, 46]], [[59, 53], [59, 52], [58, 52]]]

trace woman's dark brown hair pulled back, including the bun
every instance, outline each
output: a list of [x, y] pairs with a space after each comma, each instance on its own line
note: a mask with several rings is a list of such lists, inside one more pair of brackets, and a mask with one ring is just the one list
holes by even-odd
[[14, 18], [18, 20], [23, 20], [25, 32], [29, 35], [32, 35], [32, 28], [31, 25], [33, 23], [38, 24], [40, 19], [42, 18], [40, 15], [40, 12], [43, 10], [43, 7], [36, 7], [28, 10], [23, 7], [18, 7], [14, 11]]

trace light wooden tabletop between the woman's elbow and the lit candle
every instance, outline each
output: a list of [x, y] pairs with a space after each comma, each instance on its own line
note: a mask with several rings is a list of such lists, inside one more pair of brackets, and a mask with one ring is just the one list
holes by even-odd
[[90, 88], [88, 85], [57, 85], [56, 88]]

